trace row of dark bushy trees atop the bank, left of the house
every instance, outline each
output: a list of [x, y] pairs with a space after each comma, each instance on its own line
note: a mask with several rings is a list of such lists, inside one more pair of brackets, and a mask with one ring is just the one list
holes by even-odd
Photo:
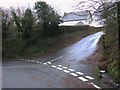
[[[57, 26], [60, 22], [60, 16], [46, 2], [38, 1], [35, 3], [34, 10], [27, 8], [25, 11], [21, 11], [12, 8], [8, 12], [8, 10], [2, 9], [3, 38], [6, 36], [11, 22], [13, 22], [12, 27], [16, 28], [18, 35], [24, 39], [30, 38], [37, 27], [44, 36], [53, 36], [58, 33]], [[53, 29], [53, 27], [55, 28]]]

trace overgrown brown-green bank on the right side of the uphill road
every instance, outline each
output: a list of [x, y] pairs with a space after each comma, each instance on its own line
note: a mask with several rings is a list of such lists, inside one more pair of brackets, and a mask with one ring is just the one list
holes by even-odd
[[116, 83], [120, 83], [117, 28], [106, 27], [105, 38], [101, 38], [99, 45], [100, 68], [106, 70]]

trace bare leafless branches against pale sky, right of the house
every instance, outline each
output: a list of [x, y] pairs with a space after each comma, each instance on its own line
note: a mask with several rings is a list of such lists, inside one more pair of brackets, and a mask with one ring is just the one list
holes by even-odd
[[85, 0], [79, 2], [76, 5], [76, 9], [91, 11], [92, 18], [103, 24], [106, 21], [106, 16], [108, 16], [108, 11], [110, 11], [110, 9], [112, 9], [116, 5], [116, 1], [113, 2], [113, 0]]

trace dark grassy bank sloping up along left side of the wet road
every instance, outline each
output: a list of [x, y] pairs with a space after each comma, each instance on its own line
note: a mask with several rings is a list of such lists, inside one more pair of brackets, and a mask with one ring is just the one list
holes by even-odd
[[3, 43], [3, 46], [6, 47], [3, 51], [8, 52], [8, 54], [3, 52], [3, 58], [27, 58], [44, 55], [75, 43], [83, 37], [98, 31], [99, 29], [89, 28], [89, 30], [64, 33], [54, 37], [39, 37], [36, 44], [29, 46], [25, 45], [27, 41], [12, 35], [6, 43]]

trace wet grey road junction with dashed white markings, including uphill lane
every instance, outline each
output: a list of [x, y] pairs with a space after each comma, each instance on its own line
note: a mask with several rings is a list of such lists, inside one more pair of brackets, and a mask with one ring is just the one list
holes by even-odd
[[93, 67], [80, 61], [96, 51], [103, 34], [92, 34], [42, 57], [3, 63], [3, 88], [102, 88]]

